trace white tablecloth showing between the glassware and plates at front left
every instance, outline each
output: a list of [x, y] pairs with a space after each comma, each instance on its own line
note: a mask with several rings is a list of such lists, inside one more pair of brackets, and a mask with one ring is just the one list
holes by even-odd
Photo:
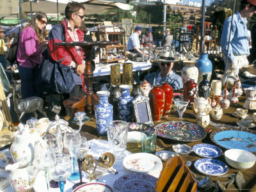
[[[110, 149], [108, 147], [108, 141], [105, 141], [105, 140], [91, 140], [91, 141], [88, 141], [88, 142], [89, 142], [89, 146], [90, 146], [89, 154], [94, 156], [95, 159], [99, 159], [99, 156], [101, 154], [103, 154], [104, 152], [108, 152], [108, 151], [110, 152]], [[1, 151], [0, 154], [3, 153], [4, 151]], [[125, 150], [125, 154], [129, 155], [129, 154], [131, 154], [131, 152]], [[2, 157], [3, 156], [1, 156], [1, 158]], [[4, 166], [3, 160], [4, 159], [0, 159], [0, 168], [3, 168], [3, 166]], [[118, 179], [119, 177], [121, 177], [123, 175], [128, 174], [124, 170], [122, 160], [116, 161], [113, 168], [115, 168], [115, 170], [118, 170], [117, 175], [115, 175], [115, 173], [113, 173], [113, 172], [111, 172], [111, 173], [104, 172], [102, 177], [99, 177], [98, 180], [92, 180], [92, 181], [87, 179], [86, 173], [83, 172], [84, 173], [83, 182], [102, 182], [104, 184], [107, 184], [109, 187], [113, 188], [113, 183], [115, 182], [116, 179]], [[160, 172], [157, 173], [157, 175], [154, 175], [154, 176], [159, 177], [159, 174], [160, 174]], [[67, 180], [67, 182], [65, 184], [64, 191], [67, 191], [67, 192], [73, 191], [72, 186], [74, 184], [76, 184], [77, 182], [79, 182], [79, 180]], [[36, 192], [45, 192], [45, 191], [47, 191], [44, 172], [38, 173], [38, 177], [35, 181], [34, 189], [35, 189]], [[11, 184], [9, 184], [7, 188], [4, 188], [0, 191], [12, 192], [13, 189], [12, 189]], [[60, 188], [50, 188], [49, 191], [59, 192]]]

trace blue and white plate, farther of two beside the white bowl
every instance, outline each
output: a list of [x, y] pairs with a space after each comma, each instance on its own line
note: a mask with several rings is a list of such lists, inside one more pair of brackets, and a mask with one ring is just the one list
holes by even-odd
[[220, 148], [216, 147], [215, 145], [211, 144], [197, 144], [194, 145], [193, 151], [200, 157], [207, 157], [207, 158], [215, 158], [220, 157], [222, 151]]

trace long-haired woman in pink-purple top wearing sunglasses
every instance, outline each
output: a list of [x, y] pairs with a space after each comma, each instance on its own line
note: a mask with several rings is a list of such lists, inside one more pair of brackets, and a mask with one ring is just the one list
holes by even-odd
[[28, 26], [20, 33], [17, 61], [19, 61], [22, 99], [33, 96], [44, 98], [44, 93], [36, 88], [34, 82], [42, 60], [42, 51], [48, 44], [45, 40], [45, 26], [47, 26], [45, 13], [36, 12]]

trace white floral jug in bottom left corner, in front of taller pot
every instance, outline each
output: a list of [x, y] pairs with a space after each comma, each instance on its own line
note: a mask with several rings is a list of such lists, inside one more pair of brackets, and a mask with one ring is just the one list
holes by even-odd
[[10, 182], [14, 191], [24, 191], [33, 187], [35, 182], [35, 168], [25, 166], [20, 168], [20, 163], [8, 164], [5, 170], [11, 172]]

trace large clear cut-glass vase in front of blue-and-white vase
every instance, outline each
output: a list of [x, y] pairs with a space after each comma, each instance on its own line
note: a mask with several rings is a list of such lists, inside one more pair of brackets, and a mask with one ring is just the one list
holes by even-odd
[[122, 160], [125, 157], [124, 151], [127, 144], [127, 122], [116, 120], [108, 125], [108, 143], [109, 148], [113, 150], [116, 160]]

